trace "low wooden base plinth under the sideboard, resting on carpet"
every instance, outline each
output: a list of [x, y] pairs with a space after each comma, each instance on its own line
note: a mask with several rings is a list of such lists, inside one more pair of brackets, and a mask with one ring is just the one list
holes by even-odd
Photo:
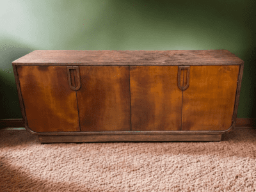
[[114, 141], [221, 141], [221, 134], [111, 134], [111, 135], [44, 135], [41, 143], [81, 143]]

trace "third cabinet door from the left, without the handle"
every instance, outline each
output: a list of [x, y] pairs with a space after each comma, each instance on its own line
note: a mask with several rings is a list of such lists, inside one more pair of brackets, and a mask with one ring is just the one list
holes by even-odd
[[180, 131], [177, 74], [178, 66], [130, 67], [132, 131]]

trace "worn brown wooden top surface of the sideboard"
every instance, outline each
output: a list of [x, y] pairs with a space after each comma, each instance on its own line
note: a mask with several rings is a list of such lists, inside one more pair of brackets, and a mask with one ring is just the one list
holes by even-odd
[[82, 51], [36, 50], [13, 65], [243, 65], [232, 52], [220, 50]]

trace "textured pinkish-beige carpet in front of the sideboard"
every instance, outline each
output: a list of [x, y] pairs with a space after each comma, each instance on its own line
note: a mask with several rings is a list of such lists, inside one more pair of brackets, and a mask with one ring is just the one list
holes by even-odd
[[220, 142], [43, 145], [0, 130], [0, 191], [256, 191], [256, 129]]

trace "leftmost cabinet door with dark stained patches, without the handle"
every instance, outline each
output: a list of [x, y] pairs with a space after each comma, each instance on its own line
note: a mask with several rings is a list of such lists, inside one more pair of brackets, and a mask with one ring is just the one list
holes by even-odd
[[68, 84], [66, 66], [17, 65], [17, 73], [32, 131], [80, 131], [76, 92]]

